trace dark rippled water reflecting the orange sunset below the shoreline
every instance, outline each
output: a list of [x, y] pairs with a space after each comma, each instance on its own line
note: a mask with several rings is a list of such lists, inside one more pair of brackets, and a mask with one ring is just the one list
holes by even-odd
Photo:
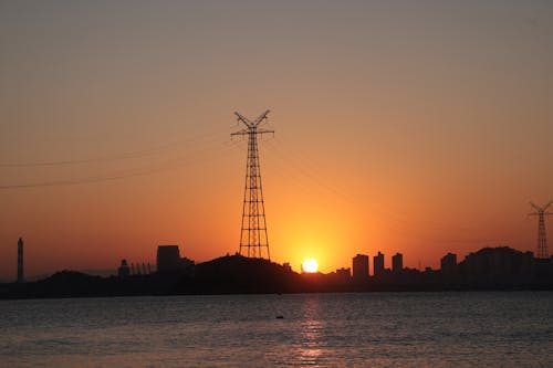
[[0, 367], [553, 367], [551, 292], [3, 301], [0, 317]]

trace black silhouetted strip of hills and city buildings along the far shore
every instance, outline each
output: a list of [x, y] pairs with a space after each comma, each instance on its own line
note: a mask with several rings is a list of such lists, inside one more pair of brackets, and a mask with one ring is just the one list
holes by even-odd
[[[424, 271], [403, 266], [403, 254], [392, 256], [392, 269], [384, 265], [385, 255], [369, 257], [357, 254], [351, 267], [331, 273], [317, 272], [316, 262], [304, 262], [301, 272], [290, 264], [236, 253], [196, 263], [181, 256], [178, 245], [157, 248], [155, 269], [150, 264], [128, 264], [122, 260], [117, 273], [91, 275], [63, 270], [41, 280], [25, 283], [2, 283], [0, 298], [77, 297], [115, 295], [184, 295], [184, 294], [270, 294], [336, 293], [384, 291], [451, 290], [551, 290], [552, 260], [534, 257], [509, 246], [482, 248], [462, 261], [447, 253], [440, 269]], [[81, 284], [80, 287], [75, 287]]]

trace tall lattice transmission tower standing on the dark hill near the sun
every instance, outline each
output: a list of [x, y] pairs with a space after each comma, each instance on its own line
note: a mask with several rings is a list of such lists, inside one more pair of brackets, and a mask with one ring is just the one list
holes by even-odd
[[[246, 128], [232, 133], [231, 136], [248, 136], [248, 160], [246, 165], [242, 227], [240, 230], [240, 254], [260, 259], [264, 257], [267, 254], [267, 259], [270, 260], [265, 204], [263, 202], [261, 170], [259, 168], [258, 135], [267, 133], [274, 134], [274, 130], [260, 128], [260, 124], [267, 119], [269, 111], [261, 114], [253, 122], [243, 117], [240, 113], [234, 114], [238, 116], [238, 122], [243, 123]], [[265, 251], [264, 253], [263, 250]]]

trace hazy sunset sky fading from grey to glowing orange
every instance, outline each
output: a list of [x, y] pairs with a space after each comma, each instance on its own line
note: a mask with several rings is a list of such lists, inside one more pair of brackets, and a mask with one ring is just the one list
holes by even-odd
[[552, 40], [551, 1], [2, 1], [0, 278], [19, 236], [27, 275], [236, 253], [265, 109], [272, 261], [535, 252]]

